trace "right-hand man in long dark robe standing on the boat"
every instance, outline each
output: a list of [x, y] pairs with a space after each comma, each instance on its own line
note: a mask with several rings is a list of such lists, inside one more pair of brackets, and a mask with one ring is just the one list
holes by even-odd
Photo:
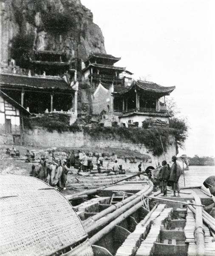
[[181, 166], [176, 163], [176, 160], [177, 160], [177, 157], [173, 156], [172, 157], [172, 161], [173, 161], [173, 165], [171, 167], [171, 173], [170, 173], [170, 181], [172, 182], [172, 189], [173, 189], [173, 196], [176, 196], [175, 195], [175, 192], [177, 191], [178, 192], [178, 195], [177, 197], [180, 197], [179, 193], [180, 193], [180, 188], [179, 188], [179, 185], [178, 185], [178, 180], [181, 176]]

